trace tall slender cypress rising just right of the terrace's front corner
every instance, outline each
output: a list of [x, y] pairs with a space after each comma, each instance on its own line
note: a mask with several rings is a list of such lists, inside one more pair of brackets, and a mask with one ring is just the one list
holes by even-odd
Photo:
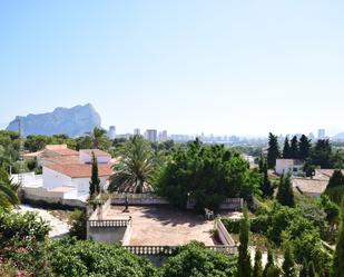
[[250, 277], [252, 265], [250, 256], [248, 251], [249, 241], [249, 219], [247, 209], [244, 210], [244, 219], [240, 222], [240, 235], [239, 235], [239, 257], [237, 264], [237, 276], [238, 277]]

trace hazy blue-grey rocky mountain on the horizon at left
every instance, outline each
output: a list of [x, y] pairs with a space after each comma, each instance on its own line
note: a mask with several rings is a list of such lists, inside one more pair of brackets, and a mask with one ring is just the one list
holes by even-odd
[[101, 119], [91, 103], [68, 108], [56, 108], [52, 112], [16, 117], [7, 130], [18, 131], [21, 119], [24, 136], [66, 133], [70, 137], [81, 136], [95, 127], [100, 127]]

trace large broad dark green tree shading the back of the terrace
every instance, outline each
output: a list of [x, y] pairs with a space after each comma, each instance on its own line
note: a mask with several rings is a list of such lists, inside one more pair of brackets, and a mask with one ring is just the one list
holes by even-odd
[[158, 192], [179, 207], [194, 200], [196, 209], [217, 209], [227, 197], [259, 191], [261, 175], [250, 172], [239, 154], [224, 146], [205, 146], [198, 139], [173, 151], [158, 178]]

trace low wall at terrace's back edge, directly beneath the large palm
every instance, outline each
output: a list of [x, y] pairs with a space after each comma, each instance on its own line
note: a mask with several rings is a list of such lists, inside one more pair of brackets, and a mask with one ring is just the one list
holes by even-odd
[[[127, 198], [128, 197], [128, 198]], [[126, 198], [131, 206], [168, 205], [168, 200], [156, 194], [112, 194], [112, 205], [126, 205]]]

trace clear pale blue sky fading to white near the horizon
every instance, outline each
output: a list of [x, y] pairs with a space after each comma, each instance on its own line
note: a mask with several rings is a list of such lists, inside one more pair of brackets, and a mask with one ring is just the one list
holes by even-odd
[[0, 126], [91, 102], [102, 126], [344, 130], [344, 1], [0, 1]]

